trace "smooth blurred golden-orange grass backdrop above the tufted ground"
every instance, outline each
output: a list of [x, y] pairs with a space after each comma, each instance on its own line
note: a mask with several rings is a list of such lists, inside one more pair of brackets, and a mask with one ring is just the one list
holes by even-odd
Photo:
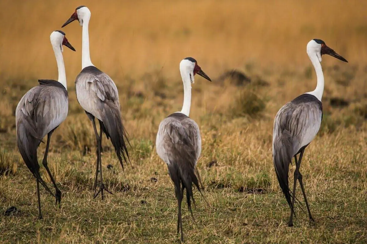
[[[51, 31], [80, 1], [3, 0], [0, 72], [10, 77], [57, 77]], [[193, 56], [209, 74], [252, 62], [276, 68], [308, 65], [307, 42], [320, 38], [351, 64], [366, 63], [367, 2], [88, 1], [92, 62], [113, 77], [163, 67], [176, 74]], [[68, 80], [81, 65], [81, 27], [65, 31], [77, 53], [64, 52]], [[330, 60], [328, 63], [337, 63]], [[116, 79], [116, 78], [115, 78]], [[116, 79], [119, 83], [120, 80]]]

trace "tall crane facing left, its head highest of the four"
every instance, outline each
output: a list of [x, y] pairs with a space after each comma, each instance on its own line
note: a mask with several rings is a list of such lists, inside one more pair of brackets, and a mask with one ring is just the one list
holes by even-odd
[[[101, 192], [103, 200], [103, 190], [110, 194], [112, 194], [112, 192], [110, 192], [103, 184], [101, 161], [102, 132], [105, 133], [107, 139], [111, 139], [117, 158], [119, 159], [123, 170], [124, 165], [122, 158], [124, 158], [126, 164], [128, 161], [130, 162], [125, 140], [128, 144], [130, 143], [121, 120], [119, 92], [117, 91], [117, 87], [106, 73], [102, 72], [92, 64], [90, 59], [88, 34], [90, 17], [90, 10], [84, 5], [79, 6], [75, 9], [75, 12], [71, 17], [62, 25], [62, 27], [68, 25], [74, 20], [78, 20], [80, 25], [83, 27], [81, 48], [82, 70], [75, 79], [76, 97], [81, 107], [85, 110], [88, 118], [92, 121], [97, 141], [97, 163], [93, 185], [94, 198], [96, 198]], [[99, 122], [99, 135], [95, 125], [95, 118], [97, 118]], [[100, 173], [101, 183], [98, 192], [96, 192], [98, 171]]]

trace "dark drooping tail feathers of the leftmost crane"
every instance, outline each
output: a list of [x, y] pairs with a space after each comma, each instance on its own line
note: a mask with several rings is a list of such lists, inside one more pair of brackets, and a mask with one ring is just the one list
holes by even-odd
[[27, 117], [22, 116], [17, 120], [17, 146], [19, 153], [21, 154], [23, 161], [27, 165], [33, 176], [40, 181], [41, 185], [46, 189], [48, 193], [55, 197], [50, 188], [41, 178], [39, 173], [40, 166], [37, 160], [37, 147], [42, 141], [42, 138], [37, 138], [36, 131], [33, 128], [33, 121], [28, 120]]

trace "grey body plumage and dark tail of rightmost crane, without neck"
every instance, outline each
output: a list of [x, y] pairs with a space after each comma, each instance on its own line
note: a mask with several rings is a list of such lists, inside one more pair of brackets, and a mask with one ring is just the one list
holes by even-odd
[[[302, 94], [285, 104], [277, 113], [273, 130], [273, 163], [280, 188], [293, 212], [293, 203], [288, 185], [288, 169], [293, 157], [297, 162], [297, 154], [315, 138], [320, 129], [322, 119], [322, 103], [314, 95]], [[299, 167], [299, 166], [297, 166]], [[300, 175], [299, 172], [297, 174]], [[298, 176], [298, 175], [297, 175]], [[301, 182], [301, 181], [300, 181]], [[303, 187], [302, 187], [303, 188]]]

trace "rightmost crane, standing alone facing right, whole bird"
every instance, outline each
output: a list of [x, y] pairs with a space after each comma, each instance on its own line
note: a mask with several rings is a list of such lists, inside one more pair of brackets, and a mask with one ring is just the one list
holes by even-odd
[[[279, 109], [273, 127], [273, 164], [281, 190], [291, 209], [288, 226], [293, 226], [294, 199], [297, 179], [305, 199], [308, 215], [314, 221], [306, 198], [302, 174], [299, 172], [305, 148], [315, 138], [320, 129], [323, 116], [321, 98], [324, 91], [324, 75], [321, 68], [321, 56], [330, 55], [341, 61], [348, 61], [329, 48], [324, 41], [313, 39], [307, 44], [307, 54], [313, 64], [317, 76], [316, 89], [285, 104]], [[297, 155], [299, 158], [297, 160]], [[288, 168], [295, 161], [293, 192], [288, 186]]]

